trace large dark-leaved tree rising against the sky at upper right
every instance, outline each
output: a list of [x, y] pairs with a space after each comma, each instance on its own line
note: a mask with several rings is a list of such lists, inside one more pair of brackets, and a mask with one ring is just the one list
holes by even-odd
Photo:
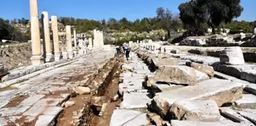
[[215, 33], [216, 27], [231, 22], [243, 11], [240, 0], [193, 0], [182, 3], [178, 8], [184, 27], [200, 34], [205, 32], [206, 24]]

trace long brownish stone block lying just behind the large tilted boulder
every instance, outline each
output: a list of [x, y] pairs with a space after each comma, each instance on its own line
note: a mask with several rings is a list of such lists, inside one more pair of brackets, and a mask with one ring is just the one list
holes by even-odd
[[195, 62], [186, 62], [186, 65], [196, 69], [197, 71], [201, 71], [204, 74], [207, 74], [210, 77], [213, 77], [214, 75], [214, 70], [213, 67], [208, 66], [208, 65], [202, 65], [202, 64], [197, 64]]

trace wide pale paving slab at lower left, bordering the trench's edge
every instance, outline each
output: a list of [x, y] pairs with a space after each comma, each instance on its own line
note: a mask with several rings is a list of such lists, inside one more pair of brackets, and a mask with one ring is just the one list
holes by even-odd
[[62, 112], [62, 107], [57, 106], [33, 106], [24, 112], [23, 115], [37, 116], [37, 115], [53, 115], [57, 116]]

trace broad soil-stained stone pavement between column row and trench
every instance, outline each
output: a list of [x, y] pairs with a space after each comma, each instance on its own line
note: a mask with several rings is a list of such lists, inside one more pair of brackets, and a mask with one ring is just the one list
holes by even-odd
[[79, 58], [59, 68], [14, 83], [0, 92], [0, 125], [55, 125], [62, 103], [72, 95], [68, 86], [84, 84], [114, 57], [114, 51]]

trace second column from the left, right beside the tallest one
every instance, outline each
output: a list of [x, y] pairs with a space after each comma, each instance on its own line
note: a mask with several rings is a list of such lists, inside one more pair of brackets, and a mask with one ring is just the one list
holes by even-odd
[[43, 20], [43, 43], [45, 46], [45, 61], [50, 62], [53, 61], [53, 52], [52, 52], [52, 47], [50, 43], [50, 28], [49, 28], [49, 17], [48, 17], [48, 12], [43, 11], [42, 12], [42, 20]]

